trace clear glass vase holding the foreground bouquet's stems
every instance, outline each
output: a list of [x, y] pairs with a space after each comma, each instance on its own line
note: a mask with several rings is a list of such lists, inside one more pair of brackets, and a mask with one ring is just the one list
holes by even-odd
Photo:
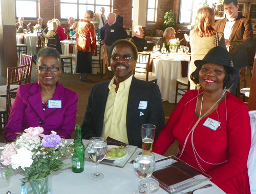
[[30, 181], [20, 189], [20, 194], [52, 194], [52, 175]]

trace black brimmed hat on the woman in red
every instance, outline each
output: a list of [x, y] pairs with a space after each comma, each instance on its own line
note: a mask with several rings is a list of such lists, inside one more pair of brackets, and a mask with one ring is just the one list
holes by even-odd
[[203, 60], [195, 60], [196, 67], [206, 64], [215, 63], [222, 66], [226, 66], [230, 69], [231, 73], [236, 74], [236, 69], [233, 67], [233, 62], [231, 60], [231, 55], [223, 47], [214, 47], [204, 56]]

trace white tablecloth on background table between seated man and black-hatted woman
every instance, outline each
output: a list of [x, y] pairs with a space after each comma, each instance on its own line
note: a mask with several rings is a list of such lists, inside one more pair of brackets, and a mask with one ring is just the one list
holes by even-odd
[[[175, 59], [172, 56], [162, 56], [153, 59], [152, 75], [157, 77], [157, 84], [163, 101], [175, 102], [176, 79], [182, 77], [181, 60], [189, 60], [189, 56], [175, 57]], [[180, 99], [181, 96], [178, 96], [177, 102]]]

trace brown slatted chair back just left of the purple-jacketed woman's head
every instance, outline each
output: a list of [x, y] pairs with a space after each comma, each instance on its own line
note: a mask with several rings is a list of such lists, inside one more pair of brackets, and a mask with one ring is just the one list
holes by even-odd
[[20, 67], [7, 68], [7, 90], [10, 90], [10, 84], [21, 85], [28, 83], [30, 64]]

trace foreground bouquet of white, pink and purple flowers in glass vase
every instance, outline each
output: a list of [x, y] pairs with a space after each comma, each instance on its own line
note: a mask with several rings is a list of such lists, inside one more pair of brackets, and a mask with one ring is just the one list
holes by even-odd
[[[66, 146], [67, 141], [62, 141], [56, 132], [52, 131], [50, 135], [44, 135], [42, 132], [42, 127], [29, 127], [25, 133], [17, 133], [20, 136], [5, 145], [1, 156], [4, 165], [11, 165], [6, 171], [7, 177], [16, 169], [25, 172], [25, 178], [21, 179], [21, 182], [22, 186], [30, 183], [31, 191], [28, 193], [51, 193], [47, 178], [63, 165], [67, 165], [59, 160], [62, 156], [74, 153], [73, 142]], [[37, 180], [40, 181], [33, 182]]]

